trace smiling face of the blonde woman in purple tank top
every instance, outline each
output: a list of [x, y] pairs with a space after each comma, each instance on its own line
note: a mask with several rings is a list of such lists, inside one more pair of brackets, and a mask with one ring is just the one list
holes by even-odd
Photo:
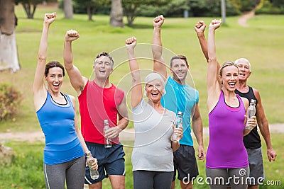
[[234, 65], [228, 65], [222, 69], [220, 78], [223, 83], [222, 88], [226, 88], [228, 91], [234, 91], [236, 84], [239, 82], [239, 69]]

